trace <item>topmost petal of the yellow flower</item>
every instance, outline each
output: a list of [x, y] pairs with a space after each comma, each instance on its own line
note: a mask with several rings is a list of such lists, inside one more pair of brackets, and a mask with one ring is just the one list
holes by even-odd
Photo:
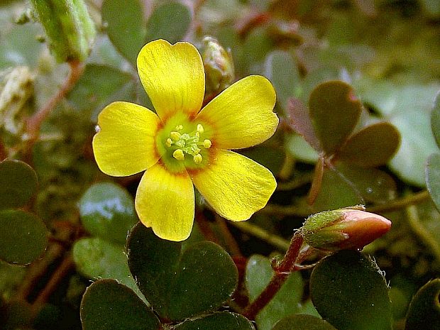
[[161, 119], [184, 111], [197, 114], [204, 97], [202, 57], [190, 43], [146, 44], [138, 55], [141, 82]]

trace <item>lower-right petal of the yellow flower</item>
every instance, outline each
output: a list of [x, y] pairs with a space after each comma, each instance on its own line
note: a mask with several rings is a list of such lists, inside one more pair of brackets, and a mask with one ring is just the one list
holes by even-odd
[[214, 163], [189, 175], [211, 207], [233, 221], [247, 220], [265, 207], [277, 187], [267, 168], [226, 150], [217, 150]]

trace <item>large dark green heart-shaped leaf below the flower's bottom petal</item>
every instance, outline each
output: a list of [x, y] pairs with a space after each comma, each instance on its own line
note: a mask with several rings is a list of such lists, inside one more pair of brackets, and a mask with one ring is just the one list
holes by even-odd
[[236, 288], [238, 271], [220, 246], [165, 241], [143, 224], [128, 236], [128, 266], [161, 317], [180, 320], [217, 309]]

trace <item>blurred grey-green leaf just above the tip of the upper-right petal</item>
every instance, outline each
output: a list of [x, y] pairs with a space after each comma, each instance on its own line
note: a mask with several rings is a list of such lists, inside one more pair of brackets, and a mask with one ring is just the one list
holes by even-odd
[[297, 96], [300, 77], [292, 54], [284, 50], [274, 50], [265, 60], [265, 77], [272, 82], [277, 92], [277, 100], [286, 110], [287, 100]]

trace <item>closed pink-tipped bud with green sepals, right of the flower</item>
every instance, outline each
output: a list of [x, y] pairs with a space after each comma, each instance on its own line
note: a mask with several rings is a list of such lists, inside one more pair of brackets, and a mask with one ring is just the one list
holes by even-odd
[[309, 216], [301, 229], [304, 241], [321, 250], [361, 250], [391, 228], [391, 221], [359, 208]]

